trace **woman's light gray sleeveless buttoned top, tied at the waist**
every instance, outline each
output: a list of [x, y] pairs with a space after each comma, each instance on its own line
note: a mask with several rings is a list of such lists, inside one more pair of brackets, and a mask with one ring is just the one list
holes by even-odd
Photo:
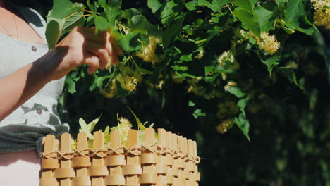
[[[37, 11], [17, 7], [27, 23], [43, 38], [46, 23]], [[31, 44], [0, 33], [0, 78], [10, 75], [48, 51], [47, 44]], [[56, 112], [64, 79], [49, 82], [22, 106], [0, 122], [0, 152], [28, 151], [42, 145], [42, 137], [68, 132]], [[1, 87], [0, 87], [1, 89]], [[1, 105], [0, 105], [1, 106]]]

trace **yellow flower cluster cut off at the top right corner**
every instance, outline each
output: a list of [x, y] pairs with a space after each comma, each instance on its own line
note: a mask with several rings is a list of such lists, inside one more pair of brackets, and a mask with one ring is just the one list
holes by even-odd
[[317, 0], [313, 2], [313, 8], [315, 9], [315, 25], [324, 26], [326, 29], [330, 30], [330, 1]]

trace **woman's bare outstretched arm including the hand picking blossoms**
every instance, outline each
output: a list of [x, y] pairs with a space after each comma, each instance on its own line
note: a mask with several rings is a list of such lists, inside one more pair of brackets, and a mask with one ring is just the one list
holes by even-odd
[[[0, 0], [1, 1], [1, 0]], [[0, 121], [36, 94], [47, 82], [59, 80], [86, 64], [87, 72], [118, 63], [121, 54], [111, 44], [109, 32], [95, 34], [93, 28], [75, 27], [57, 46], [37, 61], [0, 79]], [[111, 60], [109, 60], [109, 58]], [[1, 58], [0, 58], [1, 60]]]

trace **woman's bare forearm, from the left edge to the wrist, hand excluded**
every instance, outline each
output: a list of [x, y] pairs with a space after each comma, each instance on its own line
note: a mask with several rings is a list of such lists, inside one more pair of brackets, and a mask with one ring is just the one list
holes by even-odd
[[54, 58], [54, 52], [51, 51], [34, 63], [0, 79], [0, 121], [49, 82], [50, 66], [45, 64], [51, 64], [50, 60], [60, 60], [60, 58]]

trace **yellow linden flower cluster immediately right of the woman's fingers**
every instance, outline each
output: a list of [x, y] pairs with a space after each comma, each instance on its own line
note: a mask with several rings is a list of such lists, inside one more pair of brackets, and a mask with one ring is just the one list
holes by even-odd
[[149, 36], [149, 44], [143, 46], [142, 51], [138, 52], [137, 56], [150, 63], [160, 63], [161, 58], [155, 54], [159, 43], [160, 40], [157, 37]]

